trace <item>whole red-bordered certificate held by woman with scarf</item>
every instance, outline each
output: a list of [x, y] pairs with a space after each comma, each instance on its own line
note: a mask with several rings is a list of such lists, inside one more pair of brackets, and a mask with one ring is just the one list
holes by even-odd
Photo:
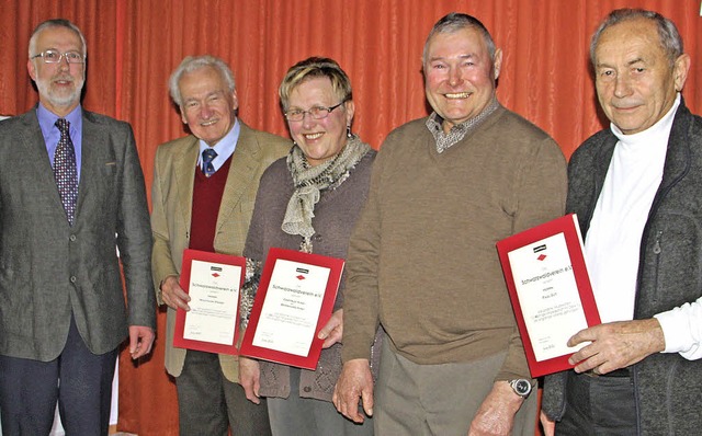
[[333, 310], [342, 259], [273, 248], [269, 251], [240, 354], [315, 369], [317, 337]]

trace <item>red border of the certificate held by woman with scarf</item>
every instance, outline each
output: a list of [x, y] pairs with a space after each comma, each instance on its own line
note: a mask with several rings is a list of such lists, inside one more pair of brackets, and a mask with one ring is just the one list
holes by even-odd
[[[314, 331], [314, 337], [312, 340], [309, 351], [305, 356], [253, 345], [256, 331], [261, 319], [261, 311], [263, 310], [263, 303], [265, 301], [267, 295], [269, 294], [271, 278], [279, 261], [290, 261], [295, 264], [299, 264], [302, 269], [305, 269], [305, 265], [329, 269], [326, 288], [319, 309], [319, 317], [317, 318], [317, 324]], [[263, 266], [263, 271], [261, 273], [259, 289], [256, 294], [256, 299], [251, 309], [249, 325], [246, 330], [246, 333], [244, 334], [240, 354], [244, 356], [314, 370], [317, 367], [319, 355], [321, 353], [321, 345], [324, 343], [322, 340], [317, 337], [317, 332], [329, 321], [329, 318], [331, 317], [333, 303], [337, 299], [337, 292], [339, 290], [341, 274], [343, 273], [343, 259], [303, 253], [299, 251], [284, 250], [279, 248], [270, 249], [268, 257], [265, 260], [265, 264]], [[299, 271], [299, 268], [296, 268], [296, 271]], [[295, 278], [304, 279], [299, 278], [299, 276], [295, 276]], [[294, 282], [293, 278], [291, 278], [291, 280]]]

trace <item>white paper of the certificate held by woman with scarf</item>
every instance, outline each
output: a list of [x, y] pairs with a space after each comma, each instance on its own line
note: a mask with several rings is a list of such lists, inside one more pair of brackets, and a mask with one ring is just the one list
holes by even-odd
[[252, 345], [307, 356], [329, 273], [328, 267], [276, 260]]

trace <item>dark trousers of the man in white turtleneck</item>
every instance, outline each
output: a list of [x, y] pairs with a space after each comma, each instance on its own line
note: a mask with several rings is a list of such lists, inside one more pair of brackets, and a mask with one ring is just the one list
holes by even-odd
[[631, 377], [568, 372], [566, 413], [556, 435], [636, 435], [636, 404]]

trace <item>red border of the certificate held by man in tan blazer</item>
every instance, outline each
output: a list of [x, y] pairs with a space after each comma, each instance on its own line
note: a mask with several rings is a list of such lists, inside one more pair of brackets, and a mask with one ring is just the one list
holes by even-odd
[[180, 286], [185, 292], [189, 294], [193, 261], [202, 261], [213, 264], [235, 265], [241, 268], [241, 274], [239, 276], [239, 290], [237, 292], [237, 310], [235, 317], [234, 336], [231, 337], [231, 343], [226, 345], [214, 342], [185, 339], [183, 337], [183, 333], [185, 328], [185, 318], [188, 317], [189, 312], [184, 311], [183, 309], [178, 309], [176, 311], [176, 331], [173, 334], [173, 346], [179, 348], [197, 349], [207, 353], [238, 355], [239, 352], [236, 347], [236, 344], [239, 335], [239, 301], [241, 286], [244, 285], [244, 276], [246, 275], [246, 259], [229, 254], [186, 249], [185, 251], [183, 251], [183, 264], [180, 275]]

